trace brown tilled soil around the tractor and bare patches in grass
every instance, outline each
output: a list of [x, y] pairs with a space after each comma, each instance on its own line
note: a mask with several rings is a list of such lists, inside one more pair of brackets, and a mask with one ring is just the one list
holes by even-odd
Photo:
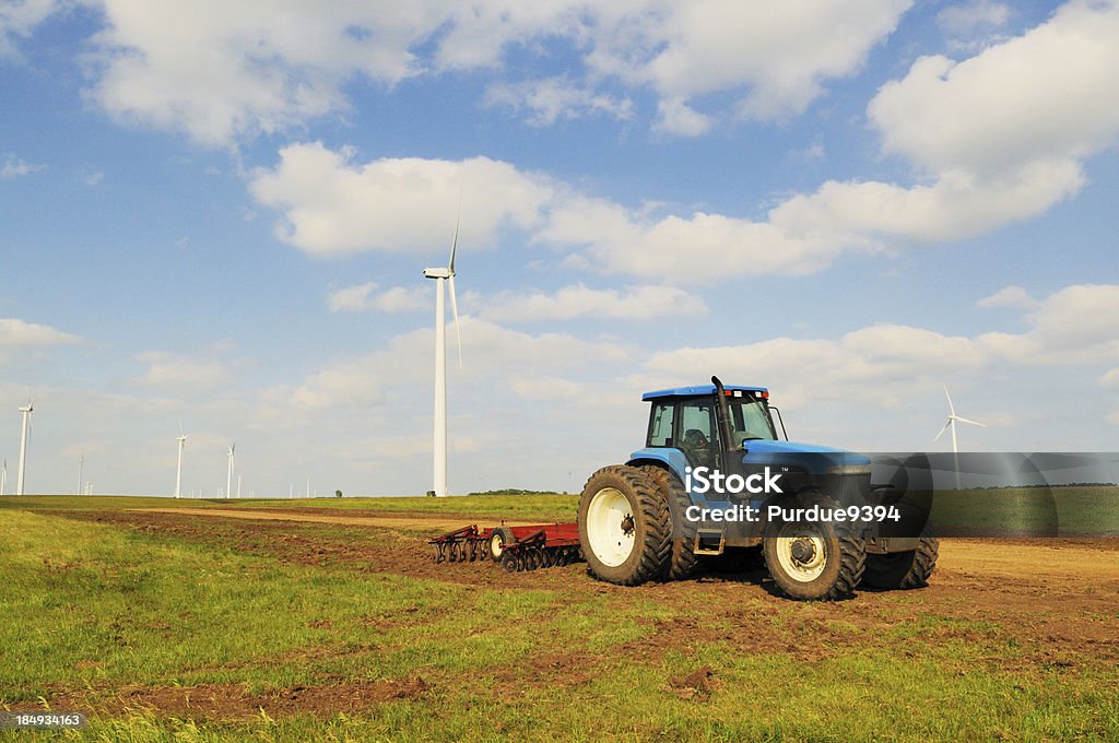
[[[649, 621], [641, 628], [640, 639], [611, 652], [621, 659], [656, 659], [668, 650], [690, 658], [711, 642], [732, 642], [750, 652], [788, 653], [812, 662], [854, 647], [912, 657], [923, 648], [956, 642], [980, 653], [980, 662], [1024, 677], [1082, 665], [1113, 669], [1119, 664], [1115, 632], [1119, 620], [1119, 549], [1115, 543], [1119, 540], [943, 539], [937, 571], [925, 589], [861, 590], [849, 601], [796, 603], [778, 595], [758, 566], [741, 573], [709, 572], [694, 581], [624, 589], [592, 580], [584, 564], [516, 574], [507, 574], [489, 561], [436, 565], [425, 537], [403, 534], [395, 524], [406, 520], [416, 527], [421, 518], [312, 515], [313, 519], [281, 520], [273, 514], [224, 509], [63, 515], [289, 564], [399, 574], [485, 589], [543, 589], [573, 599], [601, 594], [619, 606], [639, 599], [674, 611], [676, 619]], [[423, 526], [433, 536], [462, 525], [433, 518]], [[368, 623], [389, 628], [406, 622], [369, 618]], [[892, 633], [900, 626], [913, 627], [912, 640]], [[603, 662], [580, 651], [540, 652], [501, 674], [491, 688], [495, 695], [513, 697], [540, 685], [579, 686], [590, 681]], [[264, 696], [245, 694], [239, 687], [121, 689], [119, 703], [199, 717], [252, 716], [261, 708], [271, 716], [300, 711], [332, 713], [389, 698], [411, 698], [443, 683], [455, 681], [429, 675], [426, 679], [316, 686]], [[716, 671], [700, 667], [671, 679], [669, 690], [702, 702], [718, 683]]]

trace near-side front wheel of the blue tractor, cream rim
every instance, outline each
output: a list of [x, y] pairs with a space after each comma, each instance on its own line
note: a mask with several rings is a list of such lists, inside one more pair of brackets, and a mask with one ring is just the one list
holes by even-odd
[[[822, 496], [809, 496], [792, 507], [837, 507]], [[848, 525], [831, 521], [771, 521], [762, 540], [765, 567], [790, 599], [835, 601], [855, 592], [866, 565], [863, 540]]]

